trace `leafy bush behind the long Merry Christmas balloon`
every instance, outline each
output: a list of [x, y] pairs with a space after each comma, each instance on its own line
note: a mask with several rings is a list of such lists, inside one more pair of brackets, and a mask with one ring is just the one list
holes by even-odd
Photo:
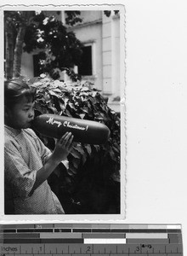
[[[36, 115], [54, 113], [88, 119], [107, 125], [111, 137], [104, 145], [75, 143], [63, 165], [49, 177], [48, 183], [59, 197], [66, 213], [107, 214], [120, 211], [120, 118], [107, 106], [103, 96], [91, 83], [64, 83], [35, 78]], [[54, 149], [54, 139], [42, 137]]]

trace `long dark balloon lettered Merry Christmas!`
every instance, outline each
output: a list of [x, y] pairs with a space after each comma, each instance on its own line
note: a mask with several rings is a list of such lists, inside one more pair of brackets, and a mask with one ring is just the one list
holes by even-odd
[[37, 116], [32, 125], [46, 137], [60, 138], [68, 131], [74, 135], [75, 142], [95, 145], [106, 143], [111, 134], [109, 128], [99, 122], [52, 113]]

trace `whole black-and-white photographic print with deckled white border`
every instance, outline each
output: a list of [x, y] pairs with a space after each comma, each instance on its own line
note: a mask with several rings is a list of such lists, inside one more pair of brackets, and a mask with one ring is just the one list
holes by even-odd
[[1, 12], [3, 219], [125, 218], [124, 6]]

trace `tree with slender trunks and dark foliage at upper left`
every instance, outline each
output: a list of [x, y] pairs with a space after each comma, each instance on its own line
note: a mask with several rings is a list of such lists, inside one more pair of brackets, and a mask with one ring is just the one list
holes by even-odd
[[[71, 12], [69, 15], [71, 23], [78, 21]], [[59, 72], [65, 68], [80, 64], [81, 42], [54, 16], [47, 17], [43, 12], [34, 11], [5, 11], [4, 24], [7, 79], [20, 76], [23, 49], [28, 53], [40, 49], [40, 71], [49, 73], [54, 79], [59, 79]]]

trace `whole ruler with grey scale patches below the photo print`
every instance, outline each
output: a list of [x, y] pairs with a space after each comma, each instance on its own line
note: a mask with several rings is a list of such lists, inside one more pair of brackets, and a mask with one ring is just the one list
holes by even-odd
[[0, 256], [182, 256], [180, 224], [0, 224]]

